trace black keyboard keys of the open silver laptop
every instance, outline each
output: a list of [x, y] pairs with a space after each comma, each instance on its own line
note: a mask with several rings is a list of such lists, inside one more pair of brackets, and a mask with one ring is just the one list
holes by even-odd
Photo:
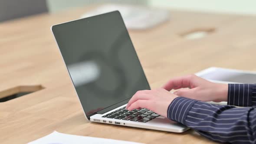
[[114, 118], [125, 121], [138, 121], [138, 122], [148, 122], [156, 117], [158, 117], [157, 113], [154, 111], [150, 111], [147, 108], [134, 109], [132, 111], [128, 111], [125, 107], [120, 108], [112, 113], [107, 115], [103, 115], [102, 118]]

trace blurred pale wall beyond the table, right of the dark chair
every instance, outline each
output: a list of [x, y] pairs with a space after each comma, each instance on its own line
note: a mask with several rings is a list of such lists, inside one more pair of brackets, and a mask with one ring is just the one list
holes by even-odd
[[46, 0], [50, 12], [92, 3], [131, 3], [207, 12], [256, 14], [255, 0]]

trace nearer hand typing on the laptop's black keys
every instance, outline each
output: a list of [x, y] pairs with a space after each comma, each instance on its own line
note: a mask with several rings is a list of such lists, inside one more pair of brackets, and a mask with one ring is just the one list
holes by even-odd
[[135, 108], [147, 108], [159, 115], [167, 117], [167, 108], [176, 97], [178, 96], [164, 88], [138, 91], [130, 99], [126, 108], [129, 111]]

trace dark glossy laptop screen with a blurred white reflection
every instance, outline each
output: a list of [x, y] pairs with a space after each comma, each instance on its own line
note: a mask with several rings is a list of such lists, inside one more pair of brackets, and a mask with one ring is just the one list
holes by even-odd
[[86, 115], [150, 89], [118, 11], [52, 30]]

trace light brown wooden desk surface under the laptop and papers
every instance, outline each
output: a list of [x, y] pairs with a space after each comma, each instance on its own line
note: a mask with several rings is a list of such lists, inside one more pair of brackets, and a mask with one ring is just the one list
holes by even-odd
[[[90, 123], [80, 107], [50, 26], [78, 19], [89, 8], [0, 23], [0, 95], [10, 88], [43, 90], [0, 103], [0, 141], [18, 144], [53, 131], [142, 143], [213, 143], [193, 130], [183, 134]], [[171, 10], [171, 20], [148, 30], [129, 30], [152, 88], [210, 66], [254, 70], [256, 17]], [[202, 39], [182, 34], [215, 29]]]

